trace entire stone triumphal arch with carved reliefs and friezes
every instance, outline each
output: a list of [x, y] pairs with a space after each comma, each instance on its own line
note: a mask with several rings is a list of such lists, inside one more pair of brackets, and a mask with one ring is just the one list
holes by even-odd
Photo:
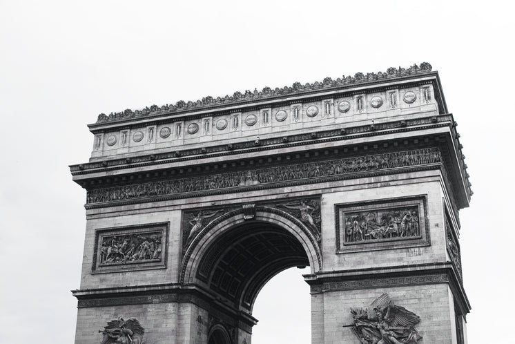
[[312, 343], [465, 343], [456, 126], [427, 63], [99, 115], [75, 343], [250, 344], [304, 266]]

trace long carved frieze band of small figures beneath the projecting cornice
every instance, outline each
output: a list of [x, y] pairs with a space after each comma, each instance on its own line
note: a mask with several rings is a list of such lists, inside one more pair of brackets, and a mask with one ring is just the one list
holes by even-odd
[[436, 148], [416, 149], [395, 153], [362, 155], [338, 160], [307, 162], [289, 166], [235, 171], [161, 182], [148, 182], [88, 191], [86, 203], [116, 202], [139, 198], [153, 198], [195, 191], [209, 191], [255, 184], [287, 182], [309, 178], [366, 173], [398, 167], [439, 164], [442, 155]]

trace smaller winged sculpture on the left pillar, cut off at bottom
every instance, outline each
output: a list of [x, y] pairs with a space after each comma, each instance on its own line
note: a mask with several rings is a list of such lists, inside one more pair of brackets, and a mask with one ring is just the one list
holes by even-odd
[[124, 318], [119, 316], [117, 320], [109, 321], [104, 330], [99, 332], [104, 334], [101, 344], [145, 344], [145, 329], [134, 318], [124, 321]]

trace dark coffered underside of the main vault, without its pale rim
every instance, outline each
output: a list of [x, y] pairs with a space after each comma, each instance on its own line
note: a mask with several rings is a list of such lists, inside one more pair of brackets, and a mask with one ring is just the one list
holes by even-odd
[[197, 278], [222, 299], [252, 312], [261, 288], [290, 267], [309, 265], [304, 248], [289, 231], [269, 222], [246, 222], [213, 240]]

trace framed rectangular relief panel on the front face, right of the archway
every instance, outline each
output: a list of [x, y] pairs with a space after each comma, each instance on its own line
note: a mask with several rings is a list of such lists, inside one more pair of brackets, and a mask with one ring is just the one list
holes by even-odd
[[429, 245], [425, 199], [336, 204], [338, 252]]

